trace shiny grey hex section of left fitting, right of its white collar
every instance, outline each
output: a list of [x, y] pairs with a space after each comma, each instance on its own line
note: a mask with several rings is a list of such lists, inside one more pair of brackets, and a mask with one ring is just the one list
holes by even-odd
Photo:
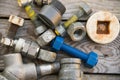
[[32, 42], [28, 49], [27, 56], [32, 58], [37, 58], [39, 50], [40, 50], [40, 47], [38, 46], [38, 44], [35, 42]]

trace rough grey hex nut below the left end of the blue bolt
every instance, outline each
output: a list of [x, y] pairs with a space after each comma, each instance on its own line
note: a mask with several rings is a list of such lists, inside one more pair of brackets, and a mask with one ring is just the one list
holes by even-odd
[[38, 59], [41, 59], [46, 62], [54, 62], [56, 59], [56, 53], [40, 49]]

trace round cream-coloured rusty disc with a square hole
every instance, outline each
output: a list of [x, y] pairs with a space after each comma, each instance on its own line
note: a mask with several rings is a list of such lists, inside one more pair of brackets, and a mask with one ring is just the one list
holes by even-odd
[[117, 17], [108, 11], [93, 14], [86, 25], [88, 36], [96, 43], [107, 44], [116, 39], [120, 31]]

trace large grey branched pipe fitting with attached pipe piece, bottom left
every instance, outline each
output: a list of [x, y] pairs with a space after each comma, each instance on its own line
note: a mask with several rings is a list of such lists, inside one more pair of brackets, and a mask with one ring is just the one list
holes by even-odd
[[38, 80], [38, 77], [55, 73], [60, 64], [35, 65], [34, 63], [23, 64], [19, 53], [4, 56], [6, 68], [2, 75], [9, 80]]

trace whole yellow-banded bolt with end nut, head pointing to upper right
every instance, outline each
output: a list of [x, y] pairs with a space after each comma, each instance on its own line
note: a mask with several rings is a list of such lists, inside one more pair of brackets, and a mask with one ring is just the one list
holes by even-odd
[[57, 35], [65, 36], [67, 33], [65, 29], [67, 29], [72, 23], [76, 22], [84, 14], [89, 15], [92, 12], [89, 5], [85, 2], [81, 2], [79, 8], [80, 8], [79, 11], [72, 17], [70, 17], [68, 21], [64, 22], [62, 25], [55, 28], [55, 33]]

